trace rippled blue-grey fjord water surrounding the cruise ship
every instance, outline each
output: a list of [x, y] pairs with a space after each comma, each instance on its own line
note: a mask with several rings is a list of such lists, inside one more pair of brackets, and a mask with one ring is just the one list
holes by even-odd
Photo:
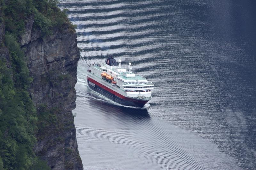
[[[61, 0], [81, 59], [73, 110], [84, 169], [256, 169], [255, 2]], [[107, 54], [155, 84], [143, 108], [92, 92]]]

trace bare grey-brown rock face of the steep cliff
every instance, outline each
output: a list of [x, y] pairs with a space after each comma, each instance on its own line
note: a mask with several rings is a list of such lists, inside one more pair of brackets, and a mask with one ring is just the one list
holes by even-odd
[[52, 169], [83, 169], [74, 116], [76, 107], [76, 68], [80, 54], [76, 33], [63, 25], [42, 35], [28, 18], [21, 45], [26, 49], [27, 65], [33, 77], [29, 89], [38, 112], [36, 155]]

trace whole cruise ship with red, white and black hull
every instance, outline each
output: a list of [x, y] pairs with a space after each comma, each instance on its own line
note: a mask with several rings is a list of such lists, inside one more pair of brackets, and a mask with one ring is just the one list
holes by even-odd
[[116, 62], [108, 55], [105, 63], [90, 64], [87, 82], [95, 92], [125, 106], [143, 107], [151, 98], [153, 83], [132, 72], [131, 63], [122, 68], [121, 60]]

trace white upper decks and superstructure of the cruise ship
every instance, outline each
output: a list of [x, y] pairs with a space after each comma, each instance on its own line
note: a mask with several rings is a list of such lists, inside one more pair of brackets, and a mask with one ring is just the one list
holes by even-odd
[[[132, 73], [131, 63], [127, 71], [121, 67], [121, 60], [118, 60], [118, 66], [107, 64], [109, 62], [92, 64], [88, 69], [88, 77], [125, 97], [151, 99], [151, 90], [154, 85], [146, 78]], [[106, 73], [106, 77], [112, 79], [103, 77], [102, 73]]]

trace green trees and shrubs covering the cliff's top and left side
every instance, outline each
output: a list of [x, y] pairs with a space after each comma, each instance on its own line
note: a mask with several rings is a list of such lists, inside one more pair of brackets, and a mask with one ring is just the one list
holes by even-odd
[[[53, 27], [68, 23], [56, 0], [0, 0], [0, 170], [49, 169], [35, 156], [36, 131], [40, 116], [29, 96], [29, 76], [24, 49], [20, 46], [26, 20], [33, 16], [33, 28], [51, 34]], [[3, 33], [4, 32], [4, 33]], [[5, 50], [6, 49], [6, 50]], [[4, 51], [6, 54], [4, 54]]]

